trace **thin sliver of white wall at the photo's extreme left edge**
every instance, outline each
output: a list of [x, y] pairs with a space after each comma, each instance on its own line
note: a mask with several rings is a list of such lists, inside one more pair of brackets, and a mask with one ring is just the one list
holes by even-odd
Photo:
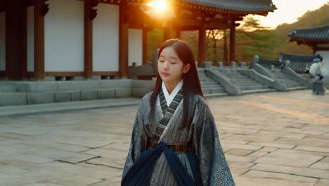
[[0, 70], [6, 70], [6, 13], [0, 13]]

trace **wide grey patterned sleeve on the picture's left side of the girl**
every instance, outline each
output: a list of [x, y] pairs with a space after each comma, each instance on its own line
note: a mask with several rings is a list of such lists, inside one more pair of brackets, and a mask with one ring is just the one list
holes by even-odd
[[139, 105], [138, 111], [136, 113], [134, 128], [131, 135], [130, 147], [126, 163], [124, 164], [122, 178], [124, 178], [124, 175], [126, 175], [126, 173], [129, 171], [129, 168], [133, 166], [136, 159], [138, 159], [141, 153], [146, 149], [148, 137], [146, 135], [143, 122], [143, 113], [145, 112], [145, 106], [145, 101], [142, 99], [141, 104]]

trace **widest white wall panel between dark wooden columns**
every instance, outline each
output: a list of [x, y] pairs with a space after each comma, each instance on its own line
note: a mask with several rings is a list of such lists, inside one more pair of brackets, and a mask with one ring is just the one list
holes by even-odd
[[44, 20], [46, 72], [84, 71], [84, 1], [48, 2]]

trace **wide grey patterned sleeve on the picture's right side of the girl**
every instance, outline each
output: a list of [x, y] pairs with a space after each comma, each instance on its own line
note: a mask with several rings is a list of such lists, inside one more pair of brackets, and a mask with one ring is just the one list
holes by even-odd
[[214, 117], [207, 104], [200, 108], [198, 114], [198, 127], [193, 141], [198, 146], [195, 149], [198, 149], [196, 153], [203, 185], [235, 185], [219, 142]]

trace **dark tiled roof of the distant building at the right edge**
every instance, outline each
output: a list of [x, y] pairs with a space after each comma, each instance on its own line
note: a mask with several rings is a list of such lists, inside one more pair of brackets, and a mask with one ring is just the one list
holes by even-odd
[[288, 34], [292, 41], [329, 42], [329, 25], [292, 30]]

